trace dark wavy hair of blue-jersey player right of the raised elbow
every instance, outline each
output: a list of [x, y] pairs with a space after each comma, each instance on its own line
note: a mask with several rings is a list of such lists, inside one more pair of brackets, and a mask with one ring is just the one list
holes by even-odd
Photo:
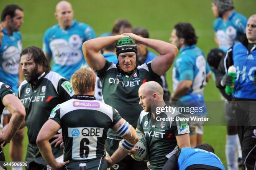
[[195, 29], [190, 23], [177, 23], [174, 29], [178, 38], [184, 38], [186, 45], [192, 46], [197, 43]]

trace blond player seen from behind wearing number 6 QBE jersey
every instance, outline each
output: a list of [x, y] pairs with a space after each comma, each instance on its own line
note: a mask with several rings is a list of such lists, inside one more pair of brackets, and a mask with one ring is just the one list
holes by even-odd
[[[51, 112], [37, 137], [37, 145], [46, 162], [58, 169], [79, 169], [86, 163], [86, 170], [106, 170], [125, 157], [138, 141], [135, 129], [121, 118], [118, 112], [95, 99], [94, 71], [81, 67], [72, 75], [73, 99], [57, 105]], [[49, 139], [62, 128], [64, 162], [59, 163], [51, 152]], [[123, 139], [118, 150], [108, 158], [105, 156], [105, 140], [108, 129], [120, 134]]]

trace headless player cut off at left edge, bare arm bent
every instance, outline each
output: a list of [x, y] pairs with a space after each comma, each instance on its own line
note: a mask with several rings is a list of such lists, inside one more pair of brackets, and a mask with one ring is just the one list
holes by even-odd
[[[5, 107], [12, 114], [9, 124], [7, 124], [0, 132], [0, 142], [1, 144], [6, 145], [20, 128], [24, 121], [26, 112], [23, 104], [15, 96], [10, 86], [3, 82], [0, 82], [0, 99], [0, 114], [2, 114]], [[0, 147], [0, 161], [5, 161], [5, 155], [2, 147]]]

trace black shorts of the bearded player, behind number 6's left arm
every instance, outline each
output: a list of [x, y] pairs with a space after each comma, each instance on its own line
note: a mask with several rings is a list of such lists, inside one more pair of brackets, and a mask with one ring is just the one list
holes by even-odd
[[[59, 147], [51, 147], [55, 158], [63, 154], [63, 149]], [[28, 162], [28, 170], [47, 169], [47, 163], [44, 161], [37, 145], [28, 143], [26, 162]]]

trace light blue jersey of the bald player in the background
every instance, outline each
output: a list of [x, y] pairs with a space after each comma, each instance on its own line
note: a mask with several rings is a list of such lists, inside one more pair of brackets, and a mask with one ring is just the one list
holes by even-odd
[[60, 28], [59, 24], [47, 29], [43, 38], [43, 50], [52, 54], [52, 71], [70, 79], [72, 74], [86, 63], [82, 43], [95, 37], [95, 32], [89, 25], [76, 20], [68, 29]]

